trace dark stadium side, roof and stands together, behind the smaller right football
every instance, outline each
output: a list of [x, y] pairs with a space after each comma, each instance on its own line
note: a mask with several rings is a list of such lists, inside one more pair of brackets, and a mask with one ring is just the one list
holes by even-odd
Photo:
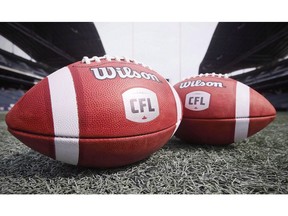
[[228, 73], [288, 110], [287, 55], [287, 23], [219, 23], [199, 73]]

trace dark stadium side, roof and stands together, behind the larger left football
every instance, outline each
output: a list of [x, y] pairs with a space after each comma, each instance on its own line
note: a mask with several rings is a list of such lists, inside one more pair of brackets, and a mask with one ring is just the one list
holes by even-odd
[[9, 110], [25, 91], [55, 70], [85, 55], [105, 55], [94, 23], [0, 23], [0, 35], [33, 60], [19, 57], [0, 47], [2, 111]]

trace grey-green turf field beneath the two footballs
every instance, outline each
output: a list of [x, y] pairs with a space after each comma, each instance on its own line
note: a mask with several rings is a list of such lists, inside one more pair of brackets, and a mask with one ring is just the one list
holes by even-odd
[[30, 150], [0, 114], [1, 194], [287, 194], [288, 113], [226, 147], [173, 138], [148, 159], [118, 169], [76, 167]]

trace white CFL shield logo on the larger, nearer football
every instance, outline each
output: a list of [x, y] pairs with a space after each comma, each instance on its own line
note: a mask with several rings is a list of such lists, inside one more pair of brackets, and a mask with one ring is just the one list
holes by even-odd
[[157, 95], [146, 88], [132, 88], [122, 94], [125, 116], [128, 120], [145, 123], [159, 116]]

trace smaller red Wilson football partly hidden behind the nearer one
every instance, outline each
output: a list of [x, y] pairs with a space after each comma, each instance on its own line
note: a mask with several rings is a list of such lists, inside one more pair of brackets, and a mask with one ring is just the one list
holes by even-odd
[[227, 145], [265, 128], [276, 116], [265, 97], [222, 74], [200, 74], [174, 85], [183, 104], [176, 137], [195, 144]]

